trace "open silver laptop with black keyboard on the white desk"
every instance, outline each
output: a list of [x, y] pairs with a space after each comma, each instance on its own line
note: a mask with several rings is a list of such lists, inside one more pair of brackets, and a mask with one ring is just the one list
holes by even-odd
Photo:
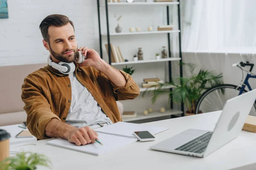
[[150, 149], [205, 157], [239, 135], [255, 99], [256, 89], [227, 100], [213, 132], [188, 129]]

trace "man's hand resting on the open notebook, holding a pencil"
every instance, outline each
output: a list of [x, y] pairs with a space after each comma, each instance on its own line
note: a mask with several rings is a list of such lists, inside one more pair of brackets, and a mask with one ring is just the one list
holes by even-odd
[[69, 142], [77, 146], [94, 143], [96, 139], [98, 140], [98, 134], [89, 126], [72, 130], [67, 138]]

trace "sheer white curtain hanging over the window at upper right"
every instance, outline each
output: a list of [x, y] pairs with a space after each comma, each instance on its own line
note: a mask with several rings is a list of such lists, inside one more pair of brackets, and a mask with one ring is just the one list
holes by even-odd
[[254, 54], [256, 0], [182, 0], [182, 51]]

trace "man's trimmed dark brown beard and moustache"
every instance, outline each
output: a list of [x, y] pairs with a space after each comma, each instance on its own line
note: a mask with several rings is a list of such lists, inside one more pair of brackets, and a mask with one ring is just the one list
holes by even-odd
[[[78, 49], [67, 49], [65, 51], [62, 51], [61, 53], [56, 53], [55, 51], [52, 50], [51, 45], [49, 45], [52, 56], [55, 59], [58, 59], [62, 62], [74, 62], [78, 56], [79, 56], [79, 51]], [[68, 57], [64, 57], [64, 53], [66, 53], [67, 51], [74, 51], [74, 54], [69, 54]]]

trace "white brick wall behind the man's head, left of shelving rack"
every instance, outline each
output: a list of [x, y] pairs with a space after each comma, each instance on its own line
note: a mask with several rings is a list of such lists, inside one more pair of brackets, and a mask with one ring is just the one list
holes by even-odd
[[8, 0], [8, 19], [0, 19], [0, 66], [43, 63], [41, 21], [64, 14], [74, 22], [79, 45], [99, 50], [96, 0]]

